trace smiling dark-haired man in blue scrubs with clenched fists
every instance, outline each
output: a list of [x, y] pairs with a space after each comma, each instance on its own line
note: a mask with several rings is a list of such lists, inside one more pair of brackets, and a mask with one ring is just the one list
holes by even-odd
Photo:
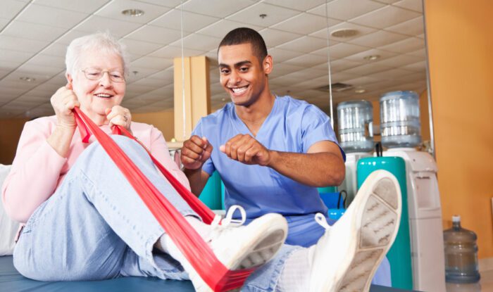
[[[273, 58], [258, 32], [240, 27], [218, 48], [220, 83], [231, 101], [196, 125], [181, 161], [199, 196], [216, 170], [225, 185], [225, 206], [242, 205], [246, 222], [275, 212], [288, 222], [286, 243], [313, 246], [327, 217], [317, 187], [338, 186], [345, 175], [344, 151], [322, 110], [269, 89]], [[333, 222], [330, 222], [332, 224]], [[385, 259], [373, 284], [390, 285]]]

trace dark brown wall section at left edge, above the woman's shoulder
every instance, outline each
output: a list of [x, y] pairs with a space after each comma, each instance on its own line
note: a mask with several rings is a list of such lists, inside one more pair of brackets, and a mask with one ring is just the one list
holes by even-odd
[[26, 119], [0, 119], [0, 163], [12, 164]]

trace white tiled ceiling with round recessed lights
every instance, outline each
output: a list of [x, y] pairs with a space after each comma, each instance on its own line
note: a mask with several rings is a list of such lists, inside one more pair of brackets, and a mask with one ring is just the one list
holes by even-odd
[[[123, 106], [144, 113], [173, 108], [173, 58], [211, 58], [213, 108], [228, 99], [219, 85], [217, 46], [235, 27], [251, 27], [273, 56], [271, 89], [327, 110], [335, 103], [376, 100], [387, 91], [426, 88], [423, 11], [420, 0], [0, 0], [0, 118], [51, 115], [49, 99], [63, 86], [65, 47], [76, 37], [110, 30], [127, 45], [132, 63]], [[138, 8], [145, 13], [121, 13]], [[265, 18], [259, 15], [265, 13]], [[328, 17], [327, 17], [328, 15]], [[349, 38], [328, 32], [354, 28]], [[327, 49], [328, 43], [328, 49]], [[376, 61], [365, 56], [379, 55]], [[20, 77], [35, 80], [26, 82]]]

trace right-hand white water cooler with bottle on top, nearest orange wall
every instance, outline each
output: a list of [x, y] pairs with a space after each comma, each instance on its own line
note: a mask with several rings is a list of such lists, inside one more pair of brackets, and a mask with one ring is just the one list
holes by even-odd
[[394, 91], [380, 99], [380, 132], [383, 156], [400, 157], [406, 163], [408, 220], [411, 238], [413, 289], [445, 291], [442, 209], [437, 165], [420, 144], [418, 95]]

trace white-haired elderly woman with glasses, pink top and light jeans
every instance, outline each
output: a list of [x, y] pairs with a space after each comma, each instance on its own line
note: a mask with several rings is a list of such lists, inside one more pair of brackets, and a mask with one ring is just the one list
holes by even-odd
[[[130, 110], [120, 106], [128, 64], [123, 46], [109, 34], [81, 37], [68, 46], [65, 63], [68, 83], [51, 97], [56, 115], [26, 123], [2, 188], [6, 212], [24, 225], [15, 246], [15, 267], [25, 277], [42, 281], [119, 276], [189, 279], [188, 274], [194, 279], [194, 270], [183, 262], [180, 251], [101, 146], [92, 143], [94, 137], [89, 144], [82, 143], [76, 130], [75, 107], [106, 133], [112, 125], [123, 126], [189, 186], [171, 160], [161, 132], [132, 122]], [[261, 265], [282, 245], [283, 237], [276, 231], [286, 234], [286, 223], [280, 215], [271, 214], [251, 227], [208, 226], [156, 171], [142, 146], [126, 137], [113, 139], [204, 236], [226, 267], [237, 269], [243, 258], [255, 255], [261, 259], [255, 265]], [[271, 238], [274, 248], [261, 243]], [[156, 249], [182, 262], [186, 272]], [[200, 286], [201, 280], [194, 284]]]

